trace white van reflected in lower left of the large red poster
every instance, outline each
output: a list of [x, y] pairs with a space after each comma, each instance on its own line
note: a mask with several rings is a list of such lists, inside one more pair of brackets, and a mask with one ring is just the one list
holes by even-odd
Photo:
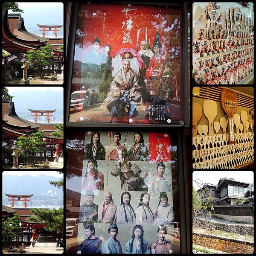
[[89, 104], [89, 93], [87, 90], [74, 91], [71, 93], [70, 111], [82, 110]]

